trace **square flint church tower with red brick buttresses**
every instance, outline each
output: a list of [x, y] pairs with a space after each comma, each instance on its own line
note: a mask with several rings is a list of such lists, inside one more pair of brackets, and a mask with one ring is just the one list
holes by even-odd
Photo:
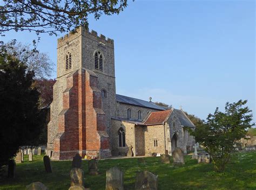
[[76, 153], [110, 157], [110, 123], [116, 112], [114, 43], [79, 27], [58, 39], [47, 150], [52, 159]]

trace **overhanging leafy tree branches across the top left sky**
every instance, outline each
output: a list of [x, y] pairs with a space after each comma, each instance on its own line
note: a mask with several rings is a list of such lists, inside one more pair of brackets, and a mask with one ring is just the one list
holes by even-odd
[[88, 26], [88, 16], [95, 19], [118, 14], [127, 6], [127, 0], [3, 0], [0, 6], [0, 33], [35, 31], [57, 34], [80, 25]]

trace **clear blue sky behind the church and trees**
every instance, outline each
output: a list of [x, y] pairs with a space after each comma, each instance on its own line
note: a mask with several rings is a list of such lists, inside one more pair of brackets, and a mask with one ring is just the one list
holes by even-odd
[[[256, 121], [254, 1], [136, 0], [89, 23], [114, 39], [118, 94], [182, 105], [203, 119], [227, 101], [248, 100]], [[60, 36], [43, 34], [38, 44], [55, 64]], [[1, 37], [14, 38], [30, 43], [36, 35]]]

